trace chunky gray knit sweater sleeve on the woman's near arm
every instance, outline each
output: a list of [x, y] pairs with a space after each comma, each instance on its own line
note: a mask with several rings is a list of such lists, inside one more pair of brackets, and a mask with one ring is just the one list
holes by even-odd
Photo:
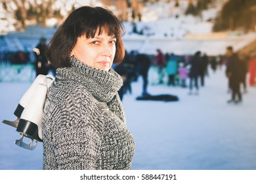
[[57, 169], [99, 169], [101, 139], [91, 100], [81, 90], [64, 97], [53, 141]]

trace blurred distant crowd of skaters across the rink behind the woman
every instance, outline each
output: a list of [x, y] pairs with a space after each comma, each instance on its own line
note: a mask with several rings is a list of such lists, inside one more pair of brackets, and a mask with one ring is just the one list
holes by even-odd
[[[54, 75], [55, 69], [47, 61], [46, 50], [46, 39], [41, 38], [37, 46], [33, 48], [33, 56], [30, 55], [30, 52], [0, 52], [0, 63], [33, 63], [36, 76], [47, 75], [49, 71]], [[223, 66], [228, 78], [228, 91], [232, 93], [230, 102], [242, 101], [240, 84], [243, 86], [244, 92], [247, 92], [247, 82], [250, 86], [256, 84], [256, 52], [251, 52], [249, 55], [236, 54], [233, 52], [232, 46], [226, 48], [226, 54], [223, 56], [207, 56], [200, 50], [194, 55], [185, 56], [172, 52], [163, 53], [160, 49], [157, 49], [154, 55], [140, 53], [137, 50], [126, 51], [123, 63], [113, 65], [113, 69], [123, 78], [123, 87], [119, 90], [119, 95], [123, 99], [125, 93], [132, 93], [131, 83], [137, 82], [139, 76], [142, 76], [143, 80], [142, 96], [150, 95], [148, 92], [150, 82], [188, 88], [189, 95], [198, 95], [200, 88], [205, 85], [205, 76], [209, 76], [208, 69], [215, 72]], [[157, 73], [157, 78], [154, 78], [154, 81], [149, 81], [148, 78], [150, 68], [154, 68]], [[235, 99], [236, 95], [238, 95], [238, 100]]]

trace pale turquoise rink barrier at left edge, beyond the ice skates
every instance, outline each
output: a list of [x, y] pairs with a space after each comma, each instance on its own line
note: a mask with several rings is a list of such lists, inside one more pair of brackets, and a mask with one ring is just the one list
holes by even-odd
[[0, 82], [32, 82], [35, 71], [32, 64], [0, 64]]

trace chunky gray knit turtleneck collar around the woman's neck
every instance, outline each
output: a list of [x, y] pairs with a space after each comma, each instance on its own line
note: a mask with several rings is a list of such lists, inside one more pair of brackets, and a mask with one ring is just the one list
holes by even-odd
[[85, 65], [73, 56], [71, 67], [59, 68], [56, 80], [73, 80], [79, 82], [100, 102], [109, 102], [121, 88], [123, 81], [116, 71], [104, 71]]

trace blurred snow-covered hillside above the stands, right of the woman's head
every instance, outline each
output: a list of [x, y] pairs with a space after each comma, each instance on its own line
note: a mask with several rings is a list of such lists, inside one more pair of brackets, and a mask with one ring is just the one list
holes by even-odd
[[[175, 1], [166, 3], [148, 3], [142, 10], [142, 21], [137, 22], [137, 31], [155, 37], [171, 37], [181, 39], [186, 33], [211, 33], [215, 16], [223, 6], [224, 1], [214, 1], [200, 16], [185, 15], [188, 1], [180, 1], [179, 7]], [[133, 25], [125, 22], [129, 35]]]

